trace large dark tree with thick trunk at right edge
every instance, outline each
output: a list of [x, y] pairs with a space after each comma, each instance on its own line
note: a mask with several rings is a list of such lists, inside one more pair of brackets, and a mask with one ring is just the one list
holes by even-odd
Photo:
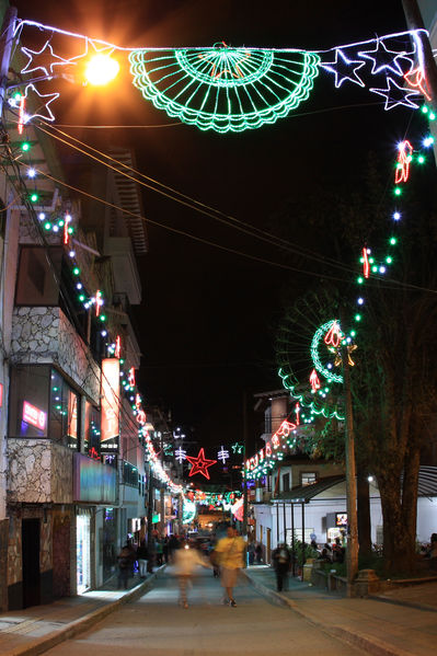
[[[402, 212], [393, 212], [389, 233], [387, 209], [392, 208], [392, 200], [381, 202], [383, 177], [375, 166], [364, 181], [363, 194], [337, 198], [333, 241], [356, 254], [371, 242], [380, 252], [366, 249], [373, 271], [366, 284], [358, 271], [355, 280], [338, 288], [333, 283], [322, 285], [324, 291], [319, 296], [331, 299], [326, 307], [345, 303], [357, 325], [352, 371], [357, 462], [358, 470], [367, 470], [378, 482], [388, 573], [414, 569], [421, 450], [432, 439], [437, 401], [437, 207], [428, 195], [434, 179], [434, 169], [416, 170], [414, 184], [393, 188]], [[331, 221], [330, 205], [324, 206], [326, 216], [319, 198], [319, 229]], [[360, 260], [363, 272], [363, 256]], [[386, 273], [381, 262], [392, 265], [388, 277], [381, 275]], [[354, 310], [357, 301], [359, 313]], [[342, 460], [343, 434], [327, 419], [321, 430], [309, 436], [307, 449]]]

